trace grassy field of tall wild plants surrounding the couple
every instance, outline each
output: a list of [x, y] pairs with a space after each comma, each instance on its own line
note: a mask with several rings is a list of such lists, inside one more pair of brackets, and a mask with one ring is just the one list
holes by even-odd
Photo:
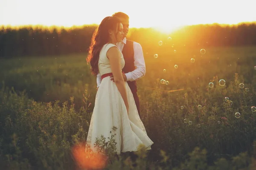
[[[138, 81], [141, 118], [154, 142], [148, 156], [140, 160], [140, 169], [253, 166], [256, 47], [209, 48], [205, 54], [200, 53], [201, 48], [178, 48], [176, 53], [174, 48], [161, 48], [144, 51], [146, 75]], [[85, 58], [86, 54], [73, 54], [0, 59], [3, 167], [75, 169], [71, 148], [86, 139], [96, 95], [96, 77], [90, 75]], [[161, 84], [160, 79], [169, 85]], [[218, 84], [220, 79], [225, 80], [224, 86]], [[214, 83], [213, 88], [209, 82]], [[240, 83], [244, 88], [239, 88]], [[12, 93], [12, 87], [25, 93]], [[236, 112], [241, 117], [236, 118]], [[205, 148], [207, 153], [195, 147]], [[160, 162], [165, 160], [160, 150], [169, 156], [166, 162]], [[237, 156], [246, 151], [247, 155]], [[233, 156], [237, 157], [231, 159]], [[120, 162], [108, 169], [118, 169]]]

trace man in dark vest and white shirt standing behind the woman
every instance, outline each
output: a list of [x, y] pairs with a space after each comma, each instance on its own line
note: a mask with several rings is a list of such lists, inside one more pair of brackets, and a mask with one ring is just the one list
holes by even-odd
[[[145, 60], [143, 57], [143, 50], [138, 42], [126, 40], [127, 33], [129, 31], [129, 16], [123, 12], [116, 12], [112, 15], [118, 17], [123, 25], [124, 38], [121, 42], [117, 43], [118, 48], [122, 51], [125, 59], [125, 66], [122, 71], [123, 78], [127, 81], [131, 92], [134, 96], [134, 101], [140, 116], [140, 101], [137, 94], [137, 83], [136, 80], [143, 77], [146, 73]], [[97, 75], [97, 88], [101, 83], [100, 74]], [[113, 80], [113, 76], [111, 78]]]

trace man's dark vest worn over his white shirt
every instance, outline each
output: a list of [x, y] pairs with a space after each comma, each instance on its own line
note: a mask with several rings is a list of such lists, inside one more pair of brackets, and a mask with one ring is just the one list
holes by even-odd
[[[125, 59], [125, 66], [122, 69], [124, 73], [128, 73], [135, 70], [134, 66], [134, 45], [133, 41], [126, 40], [126, 44], [124, 45], [124, 48], [122, 50], [122, 54]], [[136, 81], [127, 81], [131, 91], [137, 92], [137, 82]]]

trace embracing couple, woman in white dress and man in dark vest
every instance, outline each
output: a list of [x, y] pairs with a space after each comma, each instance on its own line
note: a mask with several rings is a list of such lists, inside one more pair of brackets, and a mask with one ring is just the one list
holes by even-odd
[[140, 119], [140, 102], [136, 80], [145, 75], [143, 50], [139, 43], [126, 40], [129, 29], [127, 14], [117, 12], [105, 17], [93, 32], [87, 62], [97, 76], [95, 106], [87, 135], [87, 144], [94, 147], [96, 138], [114, 137], [116, 154], [135, 152], [143, 144], [151, 149]]

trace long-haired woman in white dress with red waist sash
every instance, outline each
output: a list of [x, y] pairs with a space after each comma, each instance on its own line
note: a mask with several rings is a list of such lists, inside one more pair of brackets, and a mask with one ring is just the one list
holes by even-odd
[[[105, 17], [94, 31], [87, 62], [90, 62], [93, 75], [102, 77], [96, 94], [95, 106], [87, 135], [87, 144], [94, 149], [96, 138], [102, 135], [111, 138], [112, 127], [117, 127], [116, 154], [135, 152], [143, 144], [151, 149], [143, 122], [140, 120], [133, 94], [122, 77], [125, 65], [122, 52], [116, 46], [124, 35], [122, 23], [117, 17]], [[113, 75], [114, 81], [110, 76]]]

